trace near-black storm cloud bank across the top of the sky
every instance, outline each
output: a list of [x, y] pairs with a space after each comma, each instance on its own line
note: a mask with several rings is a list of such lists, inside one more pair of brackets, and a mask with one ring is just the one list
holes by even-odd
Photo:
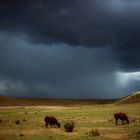
[[1, 0], [0, 30], [34, 43], [113, 46], [125, 70], [140, 66], [139, 0]]

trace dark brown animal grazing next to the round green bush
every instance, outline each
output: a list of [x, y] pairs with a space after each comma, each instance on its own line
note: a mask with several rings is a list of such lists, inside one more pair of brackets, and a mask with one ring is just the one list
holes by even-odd
[[55, 125], [57, 125], [60, 128], [60, 123], [53, 116], [46, 116], [44, 121], [45, 121], [46, 127], [48, 127], [48, 125], [54, 126], [54, 127], [55, 127]]

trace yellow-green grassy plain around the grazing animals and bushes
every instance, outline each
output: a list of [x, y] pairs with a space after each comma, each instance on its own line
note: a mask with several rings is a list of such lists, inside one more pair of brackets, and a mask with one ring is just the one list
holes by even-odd
[[[115, 125], [113, 114], [120, 111], [128, 114], [129, 125], [121, 125], [121, 121]], [[61, 128], [45, 128], [46, 115], [55, 116]], [[0, 119], [0, 140], [140, 139], [140, 103], [0, 107]], [[16, 120], [20, 123], [16, 124]], [[71, 133], [63, 127], [67, 120], [75, 122]], [[98, 129], [100, 136], [88, 135], [94, 129]]]

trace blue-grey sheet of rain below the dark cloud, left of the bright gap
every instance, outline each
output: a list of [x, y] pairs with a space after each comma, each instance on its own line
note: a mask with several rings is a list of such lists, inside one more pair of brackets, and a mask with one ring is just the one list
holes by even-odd
[[0, 94], [54, 98], [120, 95], [112, 48], [67, 44], [48, 47], [29, 43], [25, 38], [0, 32]]

